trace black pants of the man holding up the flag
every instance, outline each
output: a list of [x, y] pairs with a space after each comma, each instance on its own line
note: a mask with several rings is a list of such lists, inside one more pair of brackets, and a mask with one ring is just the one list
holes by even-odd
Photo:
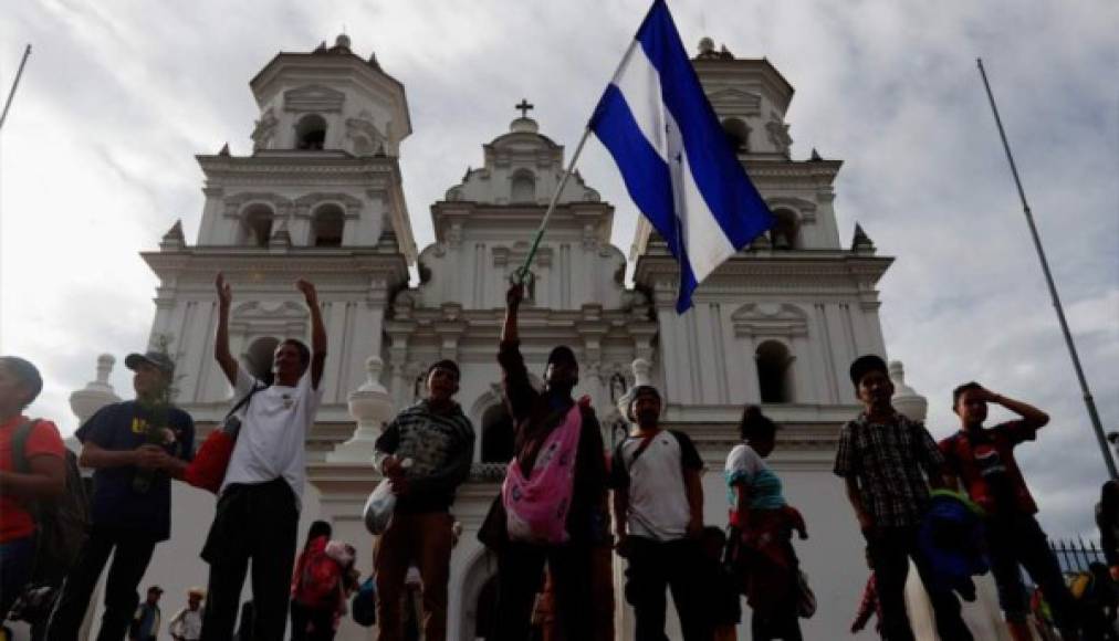
[[552, 573], [556, 619], [566, 639], [594, 638], [590, 545], [557, 546], [509, 543], [498, 553], [497, 616], [490, 641], [525, 641], [536, 593], [544, 584], [544, 564]]

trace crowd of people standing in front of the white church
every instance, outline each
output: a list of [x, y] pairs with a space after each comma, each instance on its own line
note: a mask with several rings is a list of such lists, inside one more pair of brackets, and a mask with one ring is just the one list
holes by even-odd
[[[433, 364], [424, 398], [401, 412], [376, 442], [374, 465], [389, 480], [396, 505], [376, 539], [367, 590], [356, 569], [357, 550], [331, 539], [330, 524], [316, 521], [297, 550], [304, 443], [322, 398], [327, 333], [314, 286], [302, 280], [295, 286], [310, 310], [311, 345], [286, 339], [271, 364], [246, 368], [229, 350], [233, 294], [217, 276], [214, 355], [236, 403], [215, 433], [231, 449], [211, 488], [218, 500], [200, 546], [208, 585], [190, 590], [168, 630], [176, 640], [273, 641], [290, 626], [293, 640], [329, 640], [349, 598], [368, 594], [376, 600], [379, 641], [419, 638], [421, 631], [427, 641], [445, 639], [450, 562], [461, 528], [451, 508], [474, 452], [473, 426], [454, 399], [458, 364]], [[708, 524], [705, 463], [687, 433], [661, 425], [666, 399], [659, 389], [638, 385], [627, 393], [620, 409], [631, 431], [608, 452], [590, 399], [574, 396], [579, 362], [572, 349], [553, 349], [543, 389], [532, 384], [518, 333], [523, 298], [520, 285], [509, 289], [497, 355], [515, 455], [478, 531], [497, 563], [496, 606], [479, 613], [489, 622], [489, 638], [613, 640], [617, 554], [626, 563], [621, 597], [633, 609], [638, 641], [666, 638], [669, 594], [686, 641], [735, 639], [743, 595], [751, 639], [800, 640], [800, 620], [812, 615], [816, 603], [793, 541], [807, 539], [809, 528], [767, 463], [780, 426], [758, 407], [744, 408], [741, 442], [723, 470], [728, 519]], [[204, 456], [195, 458], [191, 417], [171, 400], [171, 359], [148, 351], [130, 355], [125, 365], [134, 373], [135, 398], [103, 407], [79, 427], [75, 462], [53, 423], [23, 414], [41, 390], [38, 370], [27, 360], [0, 357], [0, 613], [26, 598], [41, 574], [47, 530], [66, 532], [64, 515], [47, 508], [84, 492], [70, 480], [73, 465], [94, 470], [88, 527], [47, 615], [32, 629], [37, 639], [77, 638], [106, 565], [97, 639], [154, 639], [160, 630], [162, 591], [150, 587], [141, 603], [138, 586], [156, 546], [170, 536], [172, 480], [199, 484]], [[1016, 641], [1033, 638], [1031, 621], [1043, 606], [1054, 639], [1113, 638], [1113, 591], [1098, 609], [1110, 607], [1111, 621], [1087, 614], [1088, 587], [1066, 585], [1015, 461], [1015, 447], [1036, 439], [1049, 422], [1045, 413], [967, 383], [952, 395], [960, 428], [938, 443], [893, 407], [882, 358], [856, 359], [850, 381], [863, 411], [839, 432], [834, 470], [846, 486], [871, 569], [850, 632], [876, 615], [883, 639], [914, 639], [904, 593], [912, 560], [941, 639], [972, 639], [960, 601], [976, 597], [971, 576], [988, 568]], [[988, 427], [991, 404], [1018, 417]], [[1113, 568], [1117, 488], [1104, 488], [1098, 509]], [[48, 521], [54, 529], [45, 527]], [[62, 563], [53, 563], [54, 574]], [[1033, 595], [1023, 568], [1036, 585]], [[246, 576], [252, 601], [242, 604]], [[1107, 566], [1096, 578], [1112, 585]], [[1104, 591], [1097, 585], [1092, 594]], [[355, 600], [355, 619], [358, 605]], [[367, 623], [372, 607], [367, 615], [361, 607]]]

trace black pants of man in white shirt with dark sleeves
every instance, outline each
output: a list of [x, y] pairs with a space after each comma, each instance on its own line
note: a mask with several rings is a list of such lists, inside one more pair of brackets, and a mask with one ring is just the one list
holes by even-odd
[[657, 541], [629, 537], [626, 601], [633, 606], [637, 641], [664, 641], [665, 590], [673, 592], [685, 641], [707, 641], [712, 629], [704, 612], [704, 564], [699, 545], [689, 539]]

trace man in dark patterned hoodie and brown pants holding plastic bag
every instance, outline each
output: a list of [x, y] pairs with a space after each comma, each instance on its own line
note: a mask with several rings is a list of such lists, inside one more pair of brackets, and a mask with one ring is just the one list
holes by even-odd
[[[459, 366], [440, 360], [427, 369], [427, 397], [408, 407], [377, 439], [374, 463], [397, 496], [393, 520], [374, 552], [379, 641], [401, 641], [401, 596], [408, 567], [423, 579], [427, 641], [446, 638], [446, 582], [454, 545], [450, 513], [454, 491], [470, 474], [474, 430], [462, 407]], [[407, 468], [403, 464], [411, 460]]]

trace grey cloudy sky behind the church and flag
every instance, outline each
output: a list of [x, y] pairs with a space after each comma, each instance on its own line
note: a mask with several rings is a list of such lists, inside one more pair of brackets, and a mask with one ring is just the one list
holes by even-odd
[[[248, 153], [248, 79], [279, 50], [345, 27], [408, 93], [402, 150], [420, 246], [429, 207], [481, 163], [527, 97], [542, 132], [574, 147], [648, 8], [564, 2], [144, 2], [7, 0], [0, 81], [32, 54], [0, 140], [0, 352], [36, 361], [31, 408], [76, 428], [69, 393], [96, 355], [144, 345], [156, 279], [138, 252], [181, 218], [197, 234], [195, 153]], [[1073, 377], [975, 59], [991, 74], [1103, 422], [1119, 430], [1119, 3], [675, 0], [703, 36], [765, 56], [797, 88], [793, 157], [846, 161], [836, 209], [897, 262], [881, 283], [890, 357], [955, 428], [951, 388], [978, 379], [1050, 411], [1021, 450], [1053, 535], [1089, 532], [1104, 469]], [[581, 171], [618, 207], [628, 253], [638, 216], [605, 151]], [[130, 381], [117, 366], [112, 383]], [[1002, 414], [997, 414], [1002, 416]]]

